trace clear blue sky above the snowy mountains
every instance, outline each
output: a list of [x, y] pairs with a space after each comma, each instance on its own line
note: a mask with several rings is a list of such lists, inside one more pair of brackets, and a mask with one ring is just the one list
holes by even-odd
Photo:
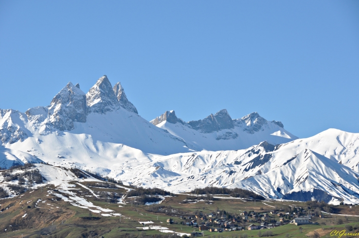
[[258, 112], [359, 132], [359, 1], [0, 1], [0, 108], [106, 74], [145, 119]]

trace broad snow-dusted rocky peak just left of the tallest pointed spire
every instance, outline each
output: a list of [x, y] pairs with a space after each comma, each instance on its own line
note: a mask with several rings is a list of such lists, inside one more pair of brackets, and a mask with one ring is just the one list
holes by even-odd
[[48, 108], [49, 122], [59, 130], [72, 130], [74, 121], [86, 122], [86, 114], [85, 93], [71, 82], [53, 98]]

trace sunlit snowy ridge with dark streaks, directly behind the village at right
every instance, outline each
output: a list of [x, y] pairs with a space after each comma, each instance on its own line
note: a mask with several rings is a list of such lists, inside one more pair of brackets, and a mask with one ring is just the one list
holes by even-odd
[[277, 146], [263, 142], [243, 150], [152, 158], [147, 164], [131, 170], [120, 167], [110, 175], [174, 192], [189, 191], [195, 184], [241, 187], [275, 199], [359, 203], [358, 151], [359, 134], [329, 129]]

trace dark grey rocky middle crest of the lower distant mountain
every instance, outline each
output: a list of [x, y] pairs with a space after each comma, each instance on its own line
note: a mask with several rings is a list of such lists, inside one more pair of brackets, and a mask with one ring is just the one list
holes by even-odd
[[188, 124], [195, 130], [203, 133], [211, 133], [222, 129], [234, 128], [233, 120], [229, 116], [226, 109], [223, 109], [216, 114], [211, 114], [203, 120], [188, 121]]

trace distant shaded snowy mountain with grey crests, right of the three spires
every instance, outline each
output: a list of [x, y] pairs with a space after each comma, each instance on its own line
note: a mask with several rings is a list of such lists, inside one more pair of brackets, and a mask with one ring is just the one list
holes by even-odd
[[280, 121], [268, 121], [258, 113], [232, 119], [225, 109], [205, 119], [188, 122], [177, 118], [175, 111], [167, 111], [150, 122], [197, 151], [245, 149], [262, 141], [276, 145], [298, 139], [285, 130]]

